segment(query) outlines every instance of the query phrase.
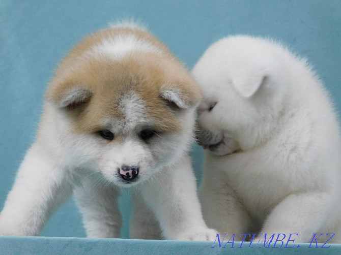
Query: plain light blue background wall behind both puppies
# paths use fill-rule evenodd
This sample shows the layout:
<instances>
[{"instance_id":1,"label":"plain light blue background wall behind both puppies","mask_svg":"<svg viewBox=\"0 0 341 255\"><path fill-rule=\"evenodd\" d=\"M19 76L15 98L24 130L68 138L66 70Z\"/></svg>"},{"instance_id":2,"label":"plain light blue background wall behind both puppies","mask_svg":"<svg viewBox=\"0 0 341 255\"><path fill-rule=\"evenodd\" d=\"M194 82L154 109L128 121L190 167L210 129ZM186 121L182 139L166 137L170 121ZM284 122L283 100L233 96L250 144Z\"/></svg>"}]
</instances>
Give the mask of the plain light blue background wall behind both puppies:
<instances>
[{"instance_id":1,"label":"plain light blue background wall behind both puppies","mask_svg":"<svg viewBox=\"0 0 341 255\"><path fill-rule=\"evenodd\" d=\"M109 21L135 18L188 68L223 36L272 37L306 56L341 112L341 1L7 1L0 2L0 208L34 141L43 94L56 64L83 36ZM200 177L202 150L193 164ZM247 187L246 187L247 188ZM120 201L129 212L128 192ZM125 213L122 237L128 237ZM72 200L43 236L84 237Z\"/></svg>"}]
</instances>

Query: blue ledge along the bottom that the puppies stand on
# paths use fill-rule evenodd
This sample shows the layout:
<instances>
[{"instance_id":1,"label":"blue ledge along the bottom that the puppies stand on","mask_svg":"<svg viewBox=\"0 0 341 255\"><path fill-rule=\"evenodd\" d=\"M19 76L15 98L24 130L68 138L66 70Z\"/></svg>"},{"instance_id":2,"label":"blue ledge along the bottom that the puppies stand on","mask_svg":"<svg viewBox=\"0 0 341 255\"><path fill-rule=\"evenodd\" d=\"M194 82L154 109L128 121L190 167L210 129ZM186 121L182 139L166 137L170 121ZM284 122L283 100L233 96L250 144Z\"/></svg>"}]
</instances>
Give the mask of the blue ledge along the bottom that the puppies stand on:
<instances>
[{"instance_id":1,"label":"blue ledge along the bottom that the puppies stand on","mask_svg":"<svg viewBox=\"0 0 341 255\"><path fill-rule=\"evenodd\" d=\"M249 243L235 242L233 245L215 245L198 241L160 241L133 239L92 239L92 238L56 238L56 237L0 237L0 254L340 254L341 244L331 244L328 248L316 248L314 245L298 244L294 248L266 247L250 248ZM232 247L233 246L233 247ZM252 247L255 245L251 245ZM297 244L296 244L297 246ZM326 245L328 246L328 245ZM289 245L288 245L289 247ZM2 253L2 251L7 251Z\"/></svg>"}]
</instances>

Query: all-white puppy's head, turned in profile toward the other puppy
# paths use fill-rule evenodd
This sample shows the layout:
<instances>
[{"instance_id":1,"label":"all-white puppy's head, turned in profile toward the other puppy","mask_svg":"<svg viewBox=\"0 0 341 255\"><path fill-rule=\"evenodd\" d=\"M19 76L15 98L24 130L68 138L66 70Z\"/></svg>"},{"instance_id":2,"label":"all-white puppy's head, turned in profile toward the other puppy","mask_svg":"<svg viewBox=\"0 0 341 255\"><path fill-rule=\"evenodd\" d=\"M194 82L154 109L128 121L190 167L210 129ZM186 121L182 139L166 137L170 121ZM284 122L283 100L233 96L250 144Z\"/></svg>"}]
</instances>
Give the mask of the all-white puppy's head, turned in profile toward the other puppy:
<instances>
[{"instance_id":1,"label":"all-white puppy's head, turned in profile toward the other puppy","mask_svg":"<svg viewBox=\"0 0 341 255\"><path fill-rule=\"evenodd\" d=\"M259 145L274 129L286 94L283 49L263 39L224 38L192 73L204 92L199 142L217 155Z\"/></svg>"}]
</instances>

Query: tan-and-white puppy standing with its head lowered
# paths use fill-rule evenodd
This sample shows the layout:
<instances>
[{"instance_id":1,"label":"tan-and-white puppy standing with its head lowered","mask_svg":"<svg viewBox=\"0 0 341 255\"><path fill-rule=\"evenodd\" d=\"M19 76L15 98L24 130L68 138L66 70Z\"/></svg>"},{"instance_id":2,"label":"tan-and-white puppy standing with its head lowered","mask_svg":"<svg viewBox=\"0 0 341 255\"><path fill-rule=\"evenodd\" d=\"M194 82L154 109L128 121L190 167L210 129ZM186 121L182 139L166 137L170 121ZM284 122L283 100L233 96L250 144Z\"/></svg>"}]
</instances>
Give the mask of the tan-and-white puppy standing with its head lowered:
<instances>
[{"instance_id":1,"label":"tan-and-white puppy standing with its head lowered","mask_svg":"<svg viewBox=\"0 0 341 255\"><path fill-rule=\"evenodd\" d=\"M132 187L131 237L214 240L187 155L201 97L144 28L120 24L84 39L49 85L0 234L38 235L74 190L87 235L117 238L119 187Z\"/></svg>"}]
</instances>

